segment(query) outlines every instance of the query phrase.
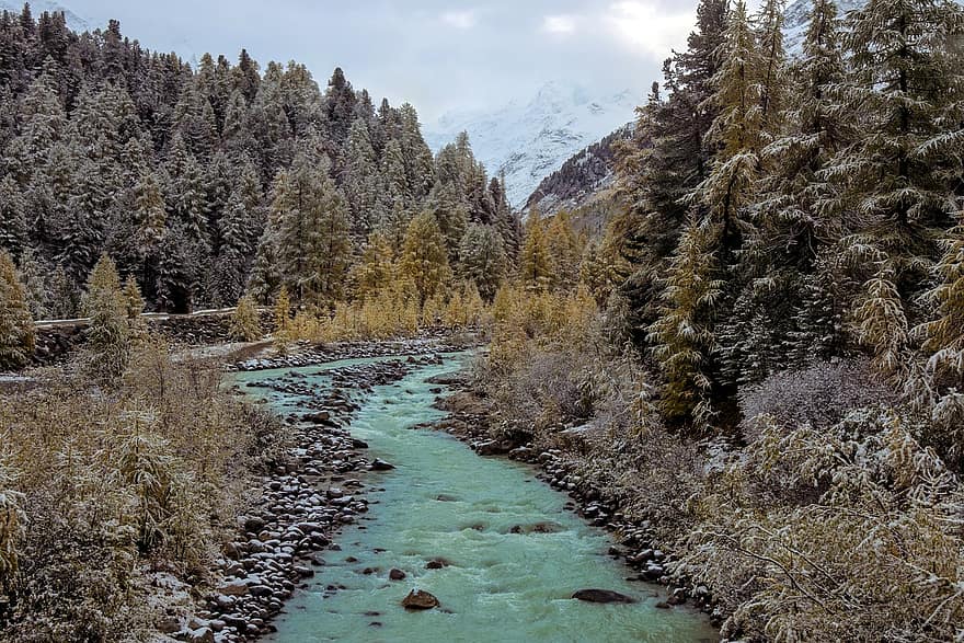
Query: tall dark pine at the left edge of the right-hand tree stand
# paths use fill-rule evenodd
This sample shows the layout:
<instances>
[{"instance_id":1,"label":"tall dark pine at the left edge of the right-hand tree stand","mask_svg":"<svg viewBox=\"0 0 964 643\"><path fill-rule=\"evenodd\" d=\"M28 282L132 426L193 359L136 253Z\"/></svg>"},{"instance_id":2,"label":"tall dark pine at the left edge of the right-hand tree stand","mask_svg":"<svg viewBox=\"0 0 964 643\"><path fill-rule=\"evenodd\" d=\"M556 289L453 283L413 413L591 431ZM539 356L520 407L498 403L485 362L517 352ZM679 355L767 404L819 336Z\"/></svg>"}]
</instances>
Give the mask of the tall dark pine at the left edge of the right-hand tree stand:
<instances>
[{"instance_id":1,"label":"tall dark pine at the left edge of the right-hand tree stand","mask_svg":"<svg viewBox=\"0 0 964 643\"><path fill-rule=\"evenodd\" d=\"M633 137L617 148L617 190L629 204L616 218L613 250L628 263L621 290L630 302L632 324L655 321L659 283L692 208L684 203L707 179L718 145L708 133L719 115L713 79L722 62L727 1L701 0L697 28L687 50L663 67L664 82L653 84L647 103L636 110ZM638 336L645 341L645 334Z\"/></svg>"}]
</instances>

